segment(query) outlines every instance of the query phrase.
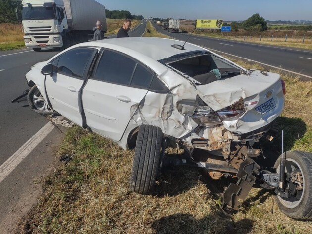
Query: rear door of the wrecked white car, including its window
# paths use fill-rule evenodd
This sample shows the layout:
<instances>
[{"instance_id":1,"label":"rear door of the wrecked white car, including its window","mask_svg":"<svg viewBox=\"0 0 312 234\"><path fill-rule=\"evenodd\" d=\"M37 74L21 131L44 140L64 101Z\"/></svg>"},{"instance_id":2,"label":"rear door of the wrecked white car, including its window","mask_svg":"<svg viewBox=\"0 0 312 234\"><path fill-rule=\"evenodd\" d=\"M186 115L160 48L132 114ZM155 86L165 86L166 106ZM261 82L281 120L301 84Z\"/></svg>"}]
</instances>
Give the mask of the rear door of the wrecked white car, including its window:
<instances>
[{"instance_id":1,"label":"rear door of the wrecked white car, including its window","mask_svg":"<svg viewBox=\"0 0 312 234\"><path fill-rule=\"evenodd\" d=\"M103 50L96 69L83 88L87 125L119 141L145 97L154 73L133 58Z\"/></svg>"}]
</instances>

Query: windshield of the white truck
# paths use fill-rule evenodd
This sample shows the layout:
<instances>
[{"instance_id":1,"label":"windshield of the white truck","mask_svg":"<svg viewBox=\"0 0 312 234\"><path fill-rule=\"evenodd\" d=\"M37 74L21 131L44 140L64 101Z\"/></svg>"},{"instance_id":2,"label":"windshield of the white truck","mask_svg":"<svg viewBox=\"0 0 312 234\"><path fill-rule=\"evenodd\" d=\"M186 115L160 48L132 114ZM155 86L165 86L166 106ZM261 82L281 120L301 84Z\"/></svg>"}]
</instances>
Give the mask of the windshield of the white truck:
<instances>
[{"instance_id":1,"label":"windshield of the white truck","mask_svg":"<svg viewBox=\"0 0 312 234\"><path fill-rule=\"evenodd\" d=\"M23 7L22 20L56 19L52 7Z\"/></svg>"}]
</instances>

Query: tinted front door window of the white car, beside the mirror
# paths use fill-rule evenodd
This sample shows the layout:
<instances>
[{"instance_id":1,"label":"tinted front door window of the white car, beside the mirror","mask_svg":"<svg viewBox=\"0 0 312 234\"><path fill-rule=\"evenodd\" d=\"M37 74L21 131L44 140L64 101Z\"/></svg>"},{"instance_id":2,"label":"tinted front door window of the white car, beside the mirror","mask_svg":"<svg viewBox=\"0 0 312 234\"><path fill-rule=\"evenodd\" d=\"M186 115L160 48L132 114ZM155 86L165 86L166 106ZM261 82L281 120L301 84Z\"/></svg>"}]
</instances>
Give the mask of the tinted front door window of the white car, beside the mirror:
<instances>
[{"instance_id":1,"label":"tinted front door window of the white car, beside the mirror","mask_svg":"<svg viewBox=\"0 0 312 234\"><path fill-rule=\"evenodd\" d=\"M93 51L89 48L76 48L65 52L59 57L56 72L82 78Z\"/></svg>"}]
</instances>

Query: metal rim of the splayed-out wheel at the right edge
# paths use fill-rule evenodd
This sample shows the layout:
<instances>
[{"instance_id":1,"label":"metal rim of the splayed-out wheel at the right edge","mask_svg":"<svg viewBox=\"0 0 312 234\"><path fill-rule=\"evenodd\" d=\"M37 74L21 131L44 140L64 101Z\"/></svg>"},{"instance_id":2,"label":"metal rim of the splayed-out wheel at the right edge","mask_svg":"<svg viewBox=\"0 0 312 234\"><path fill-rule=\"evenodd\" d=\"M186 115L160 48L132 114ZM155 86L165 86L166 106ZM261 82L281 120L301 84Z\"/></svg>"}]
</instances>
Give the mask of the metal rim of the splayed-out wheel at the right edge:
<instances>
[{"instance_id":1,"label":"metal rim of the splayed-out wheel at the right edge","mask_svg":"<svg viewBox=\"0 0 312 234\"><path fill-rule=\"evenodd\" d=\"M303 177L303 182L304 182L303 183L303 190L302 191L296 190L295 196L292 196L290 198L282 198L280 196L277 196L277 199L279 200L279 202L283 206L285 206L289 209L297 207L300 204L301 200L303 199L303 195L305 192L305 177L304 177L304 174L302 172L302 168L300 167L299 163L296 160L291 159L291 158L286 159L285 173L291 173L295 170L296 171L299 170L301 173L301 176ZM279 173L279 166L277 167L276 171Z\"/></svg>"}]
</instances>

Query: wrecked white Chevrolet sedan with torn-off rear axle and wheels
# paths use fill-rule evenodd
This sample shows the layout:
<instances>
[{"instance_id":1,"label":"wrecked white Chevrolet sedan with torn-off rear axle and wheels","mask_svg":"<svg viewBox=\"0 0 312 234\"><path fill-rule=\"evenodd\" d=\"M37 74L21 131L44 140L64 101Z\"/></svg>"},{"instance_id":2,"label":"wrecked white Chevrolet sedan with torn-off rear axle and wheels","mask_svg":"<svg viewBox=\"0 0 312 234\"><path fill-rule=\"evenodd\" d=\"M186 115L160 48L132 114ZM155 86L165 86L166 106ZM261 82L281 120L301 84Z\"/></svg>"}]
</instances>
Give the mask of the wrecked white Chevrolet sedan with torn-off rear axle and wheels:
<instances>
[{"instance_id":1,"label":"wrecked white Chevrolet sedan with torn-off rear axle and wheels","mask_svg":"<svg viewBox=\"0 0 312 234\"><path fill-rule=\"evenodd\" d=\"M117 38L74 45L26 79L32 109L135 148L131 191L152 193L164 165L190 165L238 179L224 191L224 207L239 209L259 182L285 214L312 219L311 155L288 151L271 170L254 160L284 108L279 74L178 40ZM184 153L168 156L167 147Z\"/></svg>"}]
</instances>

